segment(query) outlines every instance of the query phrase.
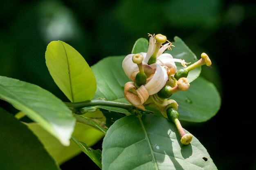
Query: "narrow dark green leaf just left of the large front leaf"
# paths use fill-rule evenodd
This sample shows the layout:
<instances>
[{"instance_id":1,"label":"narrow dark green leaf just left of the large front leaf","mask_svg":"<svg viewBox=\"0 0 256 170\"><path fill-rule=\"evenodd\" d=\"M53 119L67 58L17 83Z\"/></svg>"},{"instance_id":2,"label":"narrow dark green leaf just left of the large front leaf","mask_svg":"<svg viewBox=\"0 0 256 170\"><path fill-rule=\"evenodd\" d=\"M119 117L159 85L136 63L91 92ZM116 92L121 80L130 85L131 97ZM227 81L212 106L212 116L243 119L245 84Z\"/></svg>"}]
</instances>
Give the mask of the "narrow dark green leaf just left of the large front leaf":
<instances>
[{"instance_id":1,"label":"narrow dark green leaf just left of the large front leaf","mask_svg":"<svg viewBox=\"0 0 256 170\"><path fill-rule=\"evenodd\" d=\"M96 163L99 168L101 168L101 150L93 150L92 148L89 148L85 143L77 140L75 137L72 137L73 141L76 142L76 144L81 148L81 150Z\"/></svg>"}]
</instances>

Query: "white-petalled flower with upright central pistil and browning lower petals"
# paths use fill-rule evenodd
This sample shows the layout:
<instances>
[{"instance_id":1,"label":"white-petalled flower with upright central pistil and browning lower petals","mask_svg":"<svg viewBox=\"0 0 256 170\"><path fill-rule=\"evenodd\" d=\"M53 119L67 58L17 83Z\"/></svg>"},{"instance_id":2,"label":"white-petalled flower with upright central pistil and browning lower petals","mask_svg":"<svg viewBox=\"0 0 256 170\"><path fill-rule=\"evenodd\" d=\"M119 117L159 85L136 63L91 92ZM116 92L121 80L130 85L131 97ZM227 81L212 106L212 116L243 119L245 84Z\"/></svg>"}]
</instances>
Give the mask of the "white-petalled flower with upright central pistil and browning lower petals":
<instances>
[{"instance_id":1,"label":"white-petalled flower with upright central pistil and browning lower petals","mask_svg":"<svg viewBox=\"0 0 256 170\"><path fill-rule=\"evenodd\" d=\"M141 63L147 75L146 84L138 87L134 82L137 73L139 73L139 64L132 61L132 56L135 54L127 55L122 63L126 76L132 80L132 82L125 84L124 96L128 102L141 109L144 109L143 104L150 95L154 95L164 87L168 81L168 75L176 73L175 62L180 62L183 66L188 64L184 60L174 59L171 54L164 53L166 49L171 49L171 46L173 46L166 39L166 36L162 34L149 34L149 36L147 53L139 53L143 57ZM162 45L166 41L168 43Z\"/></svg>"}]
</instances>

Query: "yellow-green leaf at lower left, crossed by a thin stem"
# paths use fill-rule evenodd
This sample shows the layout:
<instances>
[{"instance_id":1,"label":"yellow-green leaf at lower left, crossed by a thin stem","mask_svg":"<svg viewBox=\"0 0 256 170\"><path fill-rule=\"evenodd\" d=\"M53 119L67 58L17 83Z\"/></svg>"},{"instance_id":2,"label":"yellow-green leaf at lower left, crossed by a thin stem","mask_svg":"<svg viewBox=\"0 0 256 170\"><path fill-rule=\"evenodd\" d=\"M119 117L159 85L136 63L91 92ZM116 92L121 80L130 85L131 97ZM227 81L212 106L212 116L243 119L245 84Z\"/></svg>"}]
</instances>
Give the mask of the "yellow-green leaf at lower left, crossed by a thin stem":
<instances>
[{"instance_id":1,"label":"yellow-green leaf at lower left, crossed by a thin stem","mask_svg":"<svg viewBox=\"0 0 256 170\"><path fill-rule=\"evenodd\" d=\"M63 146L39 124L29 123L26 125L32 132L34 132L48 153L59 165L81 152L81 149L72 140L70 141L70 146ZM76 123L72 136L79 139L79 141L83 141L85 144L87 144L87 146L90 147L96 144L97 141L99 141L104 135L101 131L93 128L92 126Z\"/></svg>"}]
</instances>

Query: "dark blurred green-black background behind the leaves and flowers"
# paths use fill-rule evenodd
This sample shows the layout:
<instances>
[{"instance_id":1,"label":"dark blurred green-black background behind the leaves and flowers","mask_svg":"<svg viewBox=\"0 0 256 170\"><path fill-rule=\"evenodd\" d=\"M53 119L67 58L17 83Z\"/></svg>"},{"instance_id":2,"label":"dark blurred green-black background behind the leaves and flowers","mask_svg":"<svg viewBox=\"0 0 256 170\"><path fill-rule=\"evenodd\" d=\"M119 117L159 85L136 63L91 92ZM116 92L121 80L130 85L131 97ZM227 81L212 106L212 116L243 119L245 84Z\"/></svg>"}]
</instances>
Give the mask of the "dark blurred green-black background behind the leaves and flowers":
<instances>
[{"instance_id":1,"label":"dark blurred green-black background behind the leaves and flowers","mask_svg":"<svg viewBox=\"0 0 256 170\"><path fill-rule=\"evenodd\" d=\"M213 60L202 76L222 96L215 117L185 128L207 148L219 170L256 170L255 1L8 0L1 2L0 23L0 75L37 84L63 101L45 65L52 40L67 42L91 66L103 57L129 54L135 40L147 33L162 33L170 41L179 36L198 57L205 52ZM5 102L0 107L12 111ZM76 170L97 169L83 153L61 168L74 165Z\"/></svg>"}]
</instances>

